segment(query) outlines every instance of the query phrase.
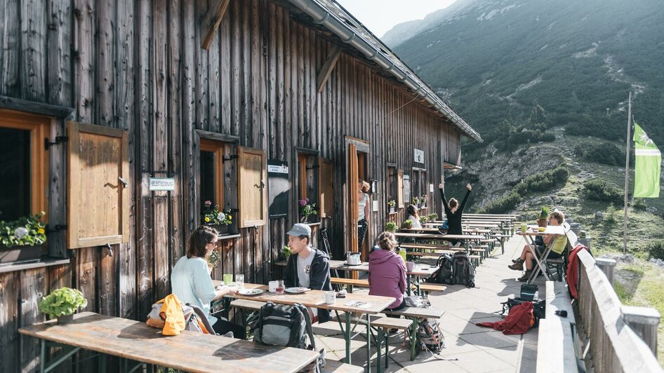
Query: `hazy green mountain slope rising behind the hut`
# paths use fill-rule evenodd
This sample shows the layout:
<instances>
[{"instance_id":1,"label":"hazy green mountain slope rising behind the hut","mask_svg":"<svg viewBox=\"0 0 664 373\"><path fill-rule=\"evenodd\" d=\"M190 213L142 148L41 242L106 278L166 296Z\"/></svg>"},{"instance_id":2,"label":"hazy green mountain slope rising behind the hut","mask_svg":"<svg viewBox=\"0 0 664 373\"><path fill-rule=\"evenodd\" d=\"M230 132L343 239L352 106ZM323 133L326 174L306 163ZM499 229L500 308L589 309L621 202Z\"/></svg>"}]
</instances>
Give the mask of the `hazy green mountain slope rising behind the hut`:
<instances>
[{"instance_id":1,"label":"hazy green mountain slope rising behind the hut","mask_svg":"<svg viewBox=\"0 0 664 373\"><path fill-rule=\"evenodd\" d=\"M463 147L460 175L482 184L478 204L565 160L580 175L617 165L608 147L624 164L630 90L635 121L664 148L661 0L459 0L383 41L484 138Z\"/></svg>"}]
</instances>

